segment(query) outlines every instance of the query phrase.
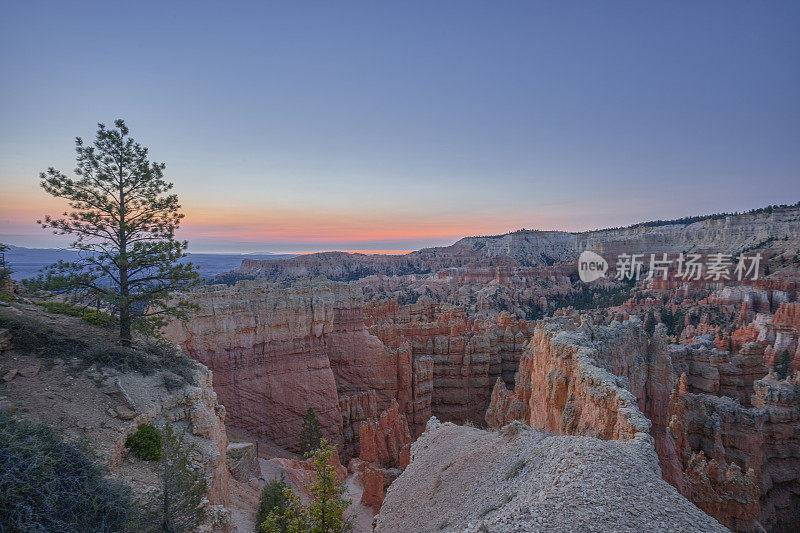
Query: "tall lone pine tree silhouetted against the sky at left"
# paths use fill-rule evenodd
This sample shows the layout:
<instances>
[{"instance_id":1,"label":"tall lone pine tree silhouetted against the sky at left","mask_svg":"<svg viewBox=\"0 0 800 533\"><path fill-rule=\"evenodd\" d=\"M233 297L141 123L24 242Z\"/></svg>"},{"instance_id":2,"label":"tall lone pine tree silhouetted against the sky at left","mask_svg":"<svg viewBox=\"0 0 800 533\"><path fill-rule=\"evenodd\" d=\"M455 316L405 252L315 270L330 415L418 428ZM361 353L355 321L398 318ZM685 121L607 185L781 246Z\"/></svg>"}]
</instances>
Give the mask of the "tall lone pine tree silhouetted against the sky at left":
<instances>
[{"instance_id":1,"label":"tall lone pine tree silhouetted against the sky at left","mask_svg":"<svg viewBox=\"0 0 800 533\"><path fill-rule=\"evenodd\" d=\"M124 121L112 129L98 126L92 146L75 141L77 178L53 167L40 174L42 188L66 199L71 211L38 223L74 235L71 248L83 252L76 261L51 265L49 279L59 281L59 292L115 313L120 343L129 345L134 320L155 330L165 316L183 316L192 307L168 302L172 291L191 287L198 275L190 263L178 262L187 242L175 240L183 214L164 180L166 166L148 160Z\"/></svg>"}]
</instances>

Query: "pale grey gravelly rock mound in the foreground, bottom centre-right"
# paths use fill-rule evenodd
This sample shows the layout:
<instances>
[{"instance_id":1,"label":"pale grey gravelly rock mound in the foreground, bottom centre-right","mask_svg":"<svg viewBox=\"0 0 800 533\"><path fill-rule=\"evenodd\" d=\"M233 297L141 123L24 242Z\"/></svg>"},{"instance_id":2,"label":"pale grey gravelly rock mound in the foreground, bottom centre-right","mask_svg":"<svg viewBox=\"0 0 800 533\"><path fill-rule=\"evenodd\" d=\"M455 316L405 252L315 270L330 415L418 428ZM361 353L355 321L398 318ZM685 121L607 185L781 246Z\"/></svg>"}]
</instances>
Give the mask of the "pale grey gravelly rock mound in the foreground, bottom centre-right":
<instances>
[{"instance_id":1,"label":"pale grey gravelly rock mound in the foreground, bottom centre-right","mask_svg":"<svg viewBox=\"0 0 800 533\"><path fill-rule=\"evenodd\" d=\"M635 439L500 431L432 418L377 531L727 531L661 479Z\"/></svg>"}]
</instances>

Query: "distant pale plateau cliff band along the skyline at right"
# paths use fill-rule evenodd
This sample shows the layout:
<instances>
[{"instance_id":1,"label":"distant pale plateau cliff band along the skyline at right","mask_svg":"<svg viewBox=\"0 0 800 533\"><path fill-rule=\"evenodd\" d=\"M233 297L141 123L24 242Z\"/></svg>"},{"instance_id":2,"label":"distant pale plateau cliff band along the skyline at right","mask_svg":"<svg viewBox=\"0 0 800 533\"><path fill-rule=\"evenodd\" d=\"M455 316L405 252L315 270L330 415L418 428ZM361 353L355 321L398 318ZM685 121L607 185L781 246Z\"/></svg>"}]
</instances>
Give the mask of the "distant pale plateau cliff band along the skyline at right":
<instances>
[{"instance_id":1,"label":"distant pale plateau cliff band along the skyline at right","mask_svg":"<svg viewBox=\"0 0 800 533\"><path fill-rule=\"evenodd\" d=\"M699 217L698 217L699 218ZM779 243L779 244L778 244ZM426 248L403 255L324 252L291 259L246 259L231 275L282 281L326 276L351 281L374 274L435 274L487 259L509 260L505 271L485 273L498 280L520 267L571 263L583 250L606 259L620 253L785 251L800 248L800 207L766 209L738 215L715 215L694 222L645 223L628 228L570 233L520 230L503 235L466 237L451 246Z\"/></svg>"}]
</instances>

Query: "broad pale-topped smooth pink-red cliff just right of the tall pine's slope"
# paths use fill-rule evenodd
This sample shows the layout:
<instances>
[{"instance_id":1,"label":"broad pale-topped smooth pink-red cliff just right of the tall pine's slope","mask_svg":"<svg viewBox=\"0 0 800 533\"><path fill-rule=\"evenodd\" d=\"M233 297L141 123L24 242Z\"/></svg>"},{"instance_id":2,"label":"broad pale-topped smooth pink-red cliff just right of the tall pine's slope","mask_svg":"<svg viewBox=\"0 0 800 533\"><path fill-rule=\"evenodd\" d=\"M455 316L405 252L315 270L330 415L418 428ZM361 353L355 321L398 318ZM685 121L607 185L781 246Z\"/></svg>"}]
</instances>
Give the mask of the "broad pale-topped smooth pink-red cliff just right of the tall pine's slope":
<instances>
[{"instance_id":1,"label":"broad pale-topped smooth pink-red cliff just right of the tall pine's slope","mask_svg":"<svg viewBox=\"0 0 800 533\"><path fill-rule=\"evenodd\" d=\"M164 335L214 372L230 425L287 449L299 449L311 407L325 436L354 453L361 422L389 407L408 374L366 330L357 287L239 282L192 301L199 310Z\"/></svg>"}]
</instances>

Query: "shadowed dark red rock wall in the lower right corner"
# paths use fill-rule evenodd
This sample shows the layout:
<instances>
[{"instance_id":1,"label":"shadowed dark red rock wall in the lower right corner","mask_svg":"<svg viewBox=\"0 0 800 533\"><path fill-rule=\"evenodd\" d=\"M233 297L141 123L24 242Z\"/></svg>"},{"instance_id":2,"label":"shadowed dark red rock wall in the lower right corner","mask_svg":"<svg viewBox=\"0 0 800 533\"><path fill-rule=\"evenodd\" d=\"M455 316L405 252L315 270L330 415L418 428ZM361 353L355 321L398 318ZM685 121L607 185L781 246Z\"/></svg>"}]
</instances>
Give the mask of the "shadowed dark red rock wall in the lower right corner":
<instances>
[{"instance_id":1,"label":"shadowed dark red rock wall in the lower right corner","mask_svg":"<svg viewBox=\"0 0 800 533\"><path fill-rule=\"evenodd\" d=\"M732 529L752 530L758 521L791 531L800 521L800 378L763 377L757 343L736 355L708 339L670 352L680 373L670 434L689 497Z\"/></svg>"}]
</instances>

